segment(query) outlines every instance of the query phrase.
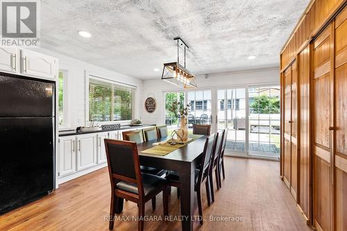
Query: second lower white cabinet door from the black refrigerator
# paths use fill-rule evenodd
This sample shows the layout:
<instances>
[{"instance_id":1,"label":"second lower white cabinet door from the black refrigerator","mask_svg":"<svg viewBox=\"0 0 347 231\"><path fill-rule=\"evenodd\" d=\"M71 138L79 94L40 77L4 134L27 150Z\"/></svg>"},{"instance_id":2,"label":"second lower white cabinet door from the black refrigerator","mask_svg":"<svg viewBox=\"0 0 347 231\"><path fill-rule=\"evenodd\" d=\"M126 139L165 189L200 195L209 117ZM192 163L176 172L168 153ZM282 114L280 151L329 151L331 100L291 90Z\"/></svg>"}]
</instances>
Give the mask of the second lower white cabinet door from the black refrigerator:
<instances>
[{"instance_id":1,"label":"second lower white cabinet door from the black refrigerator","mask_svg":"<svg viewBox=\"0 0 347 231\"><path fill-rule=\"evenodd\" d=\"M81 135L77 138L77 170L96 165L96 135Z\"/></svg>"}]
</instances>

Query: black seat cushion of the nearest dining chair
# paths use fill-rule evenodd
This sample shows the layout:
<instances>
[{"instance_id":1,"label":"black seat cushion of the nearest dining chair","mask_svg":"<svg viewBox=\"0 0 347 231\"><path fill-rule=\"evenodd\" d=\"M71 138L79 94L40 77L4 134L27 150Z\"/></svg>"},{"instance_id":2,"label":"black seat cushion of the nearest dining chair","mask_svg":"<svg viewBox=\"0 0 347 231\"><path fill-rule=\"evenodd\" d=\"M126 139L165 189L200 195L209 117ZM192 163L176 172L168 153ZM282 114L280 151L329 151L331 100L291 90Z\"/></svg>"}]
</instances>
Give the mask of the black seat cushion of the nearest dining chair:
<instances>
[{"instance_id":1,"label":"black seat cushion of the nearest dining chair","mask_svg":"<svg viewBox=\"0 0 347 231\"><path fill-rule=\"evenodd\" d=\"M159 176L142 173L142 182L144 184L144 196L147 196L153 193L153 191L157 190L158 187L163 187L166 180L165 178L161 178ZM139 194L139 192L137 191L137 185L130 182L125 182L121 180L117 183L116 188L128 191L132 194Z\"/></svg>"}]
</instances>

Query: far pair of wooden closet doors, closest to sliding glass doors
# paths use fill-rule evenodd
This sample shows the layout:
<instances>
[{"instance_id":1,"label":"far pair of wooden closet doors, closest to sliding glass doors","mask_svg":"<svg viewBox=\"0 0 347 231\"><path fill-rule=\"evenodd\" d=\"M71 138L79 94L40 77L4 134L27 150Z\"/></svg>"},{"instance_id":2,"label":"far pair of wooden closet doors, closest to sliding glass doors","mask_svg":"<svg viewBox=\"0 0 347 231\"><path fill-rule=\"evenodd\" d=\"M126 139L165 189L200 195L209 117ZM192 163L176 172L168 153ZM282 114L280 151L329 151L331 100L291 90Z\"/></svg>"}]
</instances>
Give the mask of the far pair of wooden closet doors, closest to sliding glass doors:
<instances>
[{"instance_id":1,"label":"far pair of wooden closet doors, closest to sliding glass doors","mask_svg":"<svg viewBox=\"0 0 347 231\"><path fill-rule=\"evenodd\" d=\"M297 126L298 126L298 99L297 99L297 65L292 63L284 74L285 121L284 121L284 181L296 198L298 189L298 151L297 151Z\"/></svg>"}]
</instances>

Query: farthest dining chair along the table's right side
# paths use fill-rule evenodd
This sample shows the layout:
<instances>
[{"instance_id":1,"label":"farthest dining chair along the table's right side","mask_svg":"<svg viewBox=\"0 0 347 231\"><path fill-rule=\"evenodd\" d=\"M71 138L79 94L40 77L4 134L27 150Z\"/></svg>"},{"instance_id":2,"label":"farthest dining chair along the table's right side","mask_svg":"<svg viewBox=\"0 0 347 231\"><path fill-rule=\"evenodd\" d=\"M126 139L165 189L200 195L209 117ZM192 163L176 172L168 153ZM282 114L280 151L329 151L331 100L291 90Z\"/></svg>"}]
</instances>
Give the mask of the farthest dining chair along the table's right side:
<instances>
[{"instance_id":1,"label":"farthest dining chair along the table's right side","mask_svg":"<svg viewBox=\"0 0 347 231\"><path fill-rule=\"evenodd\" d=\"M224 132L225 130L222 130L221 132L218 132L216 135L216 145L214 146L214 151L212 153L211 157L211 164L209 169L209 176L210 176L210 186L211 186L211 198L212 202L214 202L214 188L213 188L213 171L214 176L216 178L216 185L217 189L219 189L219 155L221 153L222 144L223 144L223 138L224 138Z\"/></svg>"}]
</instances>

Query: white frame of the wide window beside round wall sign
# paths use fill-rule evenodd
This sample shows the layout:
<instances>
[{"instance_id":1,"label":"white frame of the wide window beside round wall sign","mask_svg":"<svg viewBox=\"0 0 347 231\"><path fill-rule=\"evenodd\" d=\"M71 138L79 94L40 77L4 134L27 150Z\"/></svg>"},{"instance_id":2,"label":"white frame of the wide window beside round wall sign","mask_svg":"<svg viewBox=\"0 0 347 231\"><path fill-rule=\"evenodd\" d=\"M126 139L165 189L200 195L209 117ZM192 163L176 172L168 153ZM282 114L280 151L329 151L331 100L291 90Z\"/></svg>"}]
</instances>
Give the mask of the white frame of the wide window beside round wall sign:
<instances>
[{"instance_id":1,"label":"white frame of the wide window beside round wall sign","mask_svg":"<svg viewBox=\"0 0 347 231\"><path fill-rule=\"evenodd\" d=\"M90 74L88 71L85 71L85 126L90 124L90 108L89 108L89 84L90 79L110 83L114 85L119 85L120 87L128 87L131 89L132 97L131 97L131 119L128 120L118 120L118 121L95 121L98 125L103 124L112 124L112 123L121 123L121 125L128 125L130 121L134 119L135 116L135 97L136 97L136 89L135 85L130 85L126 83L120 83L117 80L110 80L109 78L99 77L99 75Z\"/></svg>"}]
</instances>

